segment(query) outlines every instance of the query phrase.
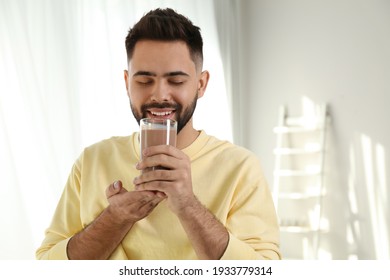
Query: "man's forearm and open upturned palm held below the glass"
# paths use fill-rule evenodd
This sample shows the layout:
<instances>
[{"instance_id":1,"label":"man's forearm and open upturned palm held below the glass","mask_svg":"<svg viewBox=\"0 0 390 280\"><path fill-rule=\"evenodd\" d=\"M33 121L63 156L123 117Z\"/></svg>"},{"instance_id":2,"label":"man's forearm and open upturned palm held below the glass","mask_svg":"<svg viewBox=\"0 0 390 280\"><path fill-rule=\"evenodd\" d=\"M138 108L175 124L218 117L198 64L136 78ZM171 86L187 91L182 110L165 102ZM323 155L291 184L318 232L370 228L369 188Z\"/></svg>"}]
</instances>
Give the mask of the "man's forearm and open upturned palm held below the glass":
<instances>
[{"instance_id":1,"label":"man's forearm and open upturned palm held below the glass","mask_svg":"<svg viewBox=\"0 0 390 280\"><path fill-rule=\"evenodd\" d=\"M116 181L106 189L109 206L68 243L69 259L108 259L133 225L165 197L151 191L127 191Z\"/></svg>"}]
</instances>

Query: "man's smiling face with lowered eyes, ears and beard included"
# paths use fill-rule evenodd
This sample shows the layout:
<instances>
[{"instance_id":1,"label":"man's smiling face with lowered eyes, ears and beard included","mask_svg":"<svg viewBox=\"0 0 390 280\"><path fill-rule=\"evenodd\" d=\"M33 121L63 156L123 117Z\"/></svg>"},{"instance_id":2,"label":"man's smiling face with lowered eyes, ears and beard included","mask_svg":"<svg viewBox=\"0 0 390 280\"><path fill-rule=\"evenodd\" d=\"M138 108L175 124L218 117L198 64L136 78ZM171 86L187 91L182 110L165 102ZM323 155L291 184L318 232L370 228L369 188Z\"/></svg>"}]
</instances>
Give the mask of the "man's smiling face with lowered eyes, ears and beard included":
<instances>
[{"instance_id":1,"label":"man's smiling face with lowered eyes, ears and beard included","mask_svg":"<svg viewBox=\"0 0 390 280\"><path fill-rule=\"evenodd\" d=\"M137 42L129 70L125 71L127 94L137 122L142 118L169 118L178 122L178 132L189 121L192 125L197 99L205 89L203 75L184 42Z\"/></svg>"}]
</instances>

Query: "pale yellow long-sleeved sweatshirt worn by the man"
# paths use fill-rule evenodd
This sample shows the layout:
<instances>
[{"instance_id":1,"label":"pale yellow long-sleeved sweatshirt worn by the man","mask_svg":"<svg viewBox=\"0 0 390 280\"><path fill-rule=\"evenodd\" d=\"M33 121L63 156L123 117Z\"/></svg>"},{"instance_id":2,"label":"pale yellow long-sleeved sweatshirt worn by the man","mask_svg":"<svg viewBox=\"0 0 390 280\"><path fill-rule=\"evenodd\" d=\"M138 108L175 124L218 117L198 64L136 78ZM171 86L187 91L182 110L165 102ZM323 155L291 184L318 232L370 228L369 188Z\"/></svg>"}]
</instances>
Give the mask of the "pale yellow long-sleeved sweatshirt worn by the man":
<instances>
[{"instance_id":1,"label":"pale yellow long-sleeved sweatshirt worn by the man","mask_svg":"<svg viewBox=\"0 0 390 280\"><path fill-rule=\"evenodd\" d=\"M86 148L75 162L38 259L67 259L69 239L108 206L106 188L121 180L133 190L140 159L138 133ZM191 159L193 191L229 231L222 259L280 259L272 197L257 158L248 150L201 131L183 150ZM111 259L196 259L178 218L165 201L138 221Z\"/></svg>"}]
</instances>

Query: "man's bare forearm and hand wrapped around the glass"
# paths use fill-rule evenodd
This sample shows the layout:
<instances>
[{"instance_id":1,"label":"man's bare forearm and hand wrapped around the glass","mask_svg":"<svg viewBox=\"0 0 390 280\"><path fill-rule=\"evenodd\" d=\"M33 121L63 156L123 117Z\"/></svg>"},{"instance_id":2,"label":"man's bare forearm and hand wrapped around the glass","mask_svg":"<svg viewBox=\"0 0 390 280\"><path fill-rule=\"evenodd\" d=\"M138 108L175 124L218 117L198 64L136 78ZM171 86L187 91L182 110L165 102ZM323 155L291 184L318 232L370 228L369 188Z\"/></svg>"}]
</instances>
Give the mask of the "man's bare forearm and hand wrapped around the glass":
<instances>
[{"instance_id":1,"label":"man's bare forearm and hand wrapped around the glass","mask_svg":"<svg viewBox=\"0 0 390 280\"><path fill-rule=\"evenodd\" d=\"M229 242L226 228L195 197L192 190L191 162L172 146L153 146L144 150L137 168L163 167L143 172L134 179L138 191L162 192L177 215L200 259L219 259Z\"/></svg>"}]
</instances>

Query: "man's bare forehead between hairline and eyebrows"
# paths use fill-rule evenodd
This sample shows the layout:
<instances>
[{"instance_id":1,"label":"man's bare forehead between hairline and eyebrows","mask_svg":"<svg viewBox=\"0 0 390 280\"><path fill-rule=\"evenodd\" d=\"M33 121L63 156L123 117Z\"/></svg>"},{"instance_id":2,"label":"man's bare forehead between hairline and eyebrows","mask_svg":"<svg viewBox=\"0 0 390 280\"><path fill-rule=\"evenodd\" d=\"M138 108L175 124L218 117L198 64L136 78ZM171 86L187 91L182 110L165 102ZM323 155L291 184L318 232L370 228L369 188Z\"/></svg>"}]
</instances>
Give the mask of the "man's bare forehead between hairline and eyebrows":
<instances>
[{"instance_id":1,"label":"man's bare forehead between hairline and eyebrows","mask_svg":"<svg viewBox=\"0 0 390 280\"><path fill-rule=\"evenodd\" d=\"M182 41L141 40L136 43L129 70L170 72L195 71L186 43Z\"/></svg>"}]
</instances>

